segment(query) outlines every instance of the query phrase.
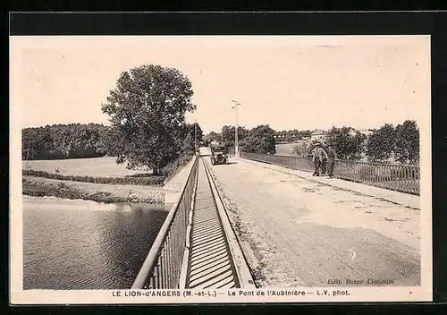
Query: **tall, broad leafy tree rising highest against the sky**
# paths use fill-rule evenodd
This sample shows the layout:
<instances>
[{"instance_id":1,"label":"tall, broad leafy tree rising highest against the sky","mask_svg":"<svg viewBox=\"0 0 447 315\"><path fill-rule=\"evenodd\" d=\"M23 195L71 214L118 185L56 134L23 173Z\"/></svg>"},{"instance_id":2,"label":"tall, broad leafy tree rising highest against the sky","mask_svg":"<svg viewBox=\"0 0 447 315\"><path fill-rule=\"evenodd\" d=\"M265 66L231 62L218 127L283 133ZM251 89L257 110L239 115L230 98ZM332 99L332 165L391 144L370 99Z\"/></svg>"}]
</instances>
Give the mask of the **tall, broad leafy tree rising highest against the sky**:
<instances>
[{"instance_id":1,"label":"tall, broad leafy tree rising highest against the sky","mask_svg":"<svg viewBox=\"0 0 447 315\"><path fill-rule=\"evenodd\" d=\"M180 154L185 114L195 110L190 80L179 70L141 65L122 72L103 112L110 116L116 162L158 175Z\"/></svg>"}]
</instances>

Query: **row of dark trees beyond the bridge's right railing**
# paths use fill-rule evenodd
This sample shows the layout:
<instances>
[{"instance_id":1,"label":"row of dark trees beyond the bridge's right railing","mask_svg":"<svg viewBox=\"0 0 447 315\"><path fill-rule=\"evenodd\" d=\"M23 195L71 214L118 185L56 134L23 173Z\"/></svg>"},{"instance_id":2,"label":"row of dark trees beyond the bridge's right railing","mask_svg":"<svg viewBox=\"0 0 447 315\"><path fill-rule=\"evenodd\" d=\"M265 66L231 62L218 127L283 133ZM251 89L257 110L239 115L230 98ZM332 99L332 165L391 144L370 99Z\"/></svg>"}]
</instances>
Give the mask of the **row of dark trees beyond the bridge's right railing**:
<instances>
[{"instance_id":1,"label":"row of dark trees beyond the bridge's right railing","mask_svg":"<svg viewBox=\"0 0 447 315\"><path fill-rule=\"evenodd\" d=\"M223 126L221 132L209 132L205 136L205 144L215 140L223 143L229 151L234 148L234 126ZM293 130L276 132L268 125L259 125L253 129L239 127L238 138L240 151L275 154L277 136L283 135L285 142L308 139L312 132ZM295 137L292 137L295 135ZM407 120L393 126L385 123L379 129L364 134L351 127L333 127L326 132L322 140L300 141L294 147L294 152L302 158L309 158L316 142L324 147L332 145L337 157L341 159L367 159L371 162L399 162L402 164L417 164L419 161L419 129L415 121Z\"/></svg>"}]
</instances>

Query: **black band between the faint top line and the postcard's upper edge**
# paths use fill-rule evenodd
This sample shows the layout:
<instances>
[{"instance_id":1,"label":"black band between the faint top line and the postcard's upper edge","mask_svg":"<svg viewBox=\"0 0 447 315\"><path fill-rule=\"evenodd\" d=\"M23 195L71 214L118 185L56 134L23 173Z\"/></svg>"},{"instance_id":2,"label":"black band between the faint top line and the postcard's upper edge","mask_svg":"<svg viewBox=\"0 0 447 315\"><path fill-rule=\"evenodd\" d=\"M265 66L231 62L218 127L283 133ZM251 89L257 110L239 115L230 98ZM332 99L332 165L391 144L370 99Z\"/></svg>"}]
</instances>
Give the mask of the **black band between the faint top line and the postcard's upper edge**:
<instances>
[{"instance_id":1,"label":"black band between the faint top line and the postcard's upper edge","mask_svg":"<svg viewBox=\"0 0 447 315\"><path fill-rule=\"evenodd\" d=\"M447 13L11 13L20 35L432 34ZM439 38L438 38L439 36Z\"/></svg>"}]
</instances>

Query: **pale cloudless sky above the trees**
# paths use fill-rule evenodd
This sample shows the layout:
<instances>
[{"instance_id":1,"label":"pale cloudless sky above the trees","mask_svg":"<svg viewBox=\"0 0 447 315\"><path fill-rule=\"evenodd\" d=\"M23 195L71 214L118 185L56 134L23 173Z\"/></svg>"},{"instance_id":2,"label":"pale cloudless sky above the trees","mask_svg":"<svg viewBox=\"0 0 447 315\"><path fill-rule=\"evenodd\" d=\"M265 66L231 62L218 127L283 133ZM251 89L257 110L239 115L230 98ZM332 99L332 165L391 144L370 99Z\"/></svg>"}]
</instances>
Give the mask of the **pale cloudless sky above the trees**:
<instances>
[{"instance_id":1,"label":"pale cloudless sky above the trees","mask_svg":"<svg viewBox=\"0 0 447 315\"><path fill-rule=\"evenodd\" d=\"M13 37L10 106L21 126L104 123L120 73L174 67L191 81L204 132L357 129L418 122L430 108L428 36Z\"/></svg>"}]
</instances>

